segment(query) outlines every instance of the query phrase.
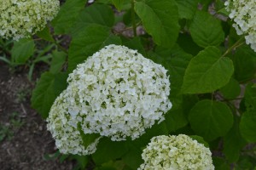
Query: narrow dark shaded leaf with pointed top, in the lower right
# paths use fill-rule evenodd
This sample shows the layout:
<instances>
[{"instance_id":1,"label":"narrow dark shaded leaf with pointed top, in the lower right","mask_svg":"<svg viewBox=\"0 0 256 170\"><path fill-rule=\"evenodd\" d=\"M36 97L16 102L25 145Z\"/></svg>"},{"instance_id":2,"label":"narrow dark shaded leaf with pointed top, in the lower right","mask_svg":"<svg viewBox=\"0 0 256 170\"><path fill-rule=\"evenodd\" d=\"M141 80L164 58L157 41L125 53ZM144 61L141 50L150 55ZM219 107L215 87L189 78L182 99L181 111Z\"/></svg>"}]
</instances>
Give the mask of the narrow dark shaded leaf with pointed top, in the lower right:
<instances>
[{"instance_id":1,"label":"narrow dark shaded leaf with pointed top, in the lower right","mask_svg":"<svg viewBox=\"0 0 256 170\"><path fill-rule=\"evenodd\" d=\"M230 132L224 136L224 155L230 162L236 162L239 159L242 147L247 144L241 137L239 131L239 119L235 116L235 122Z\"/></svg>"}]
</instances>

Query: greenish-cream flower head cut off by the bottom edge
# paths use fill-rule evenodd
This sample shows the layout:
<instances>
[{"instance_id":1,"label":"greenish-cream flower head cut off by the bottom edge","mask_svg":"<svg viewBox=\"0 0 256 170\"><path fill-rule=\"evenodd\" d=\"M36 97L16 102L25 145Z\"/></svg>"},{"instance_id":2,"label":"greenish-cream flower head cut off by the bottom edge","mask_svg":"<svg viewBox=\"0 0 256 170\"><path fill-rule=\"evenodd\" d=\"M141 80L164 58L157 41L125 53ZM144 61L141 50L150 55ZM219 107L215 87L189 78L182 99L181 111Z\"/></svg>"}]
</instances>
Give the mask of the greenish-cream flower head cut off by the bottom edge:
<instances>
[{"instance_id":1,"label":"greenish-cream flower head cut off by the bottom edge","mask_svg":"<svg viewBox=\"0 0 256 170\"><path fill-rule=\"evenodd\" d=\"M212 170L212 153L184 134L157 136L143 150L144 163L138 170Z\"/></svg>"}]
</instances>

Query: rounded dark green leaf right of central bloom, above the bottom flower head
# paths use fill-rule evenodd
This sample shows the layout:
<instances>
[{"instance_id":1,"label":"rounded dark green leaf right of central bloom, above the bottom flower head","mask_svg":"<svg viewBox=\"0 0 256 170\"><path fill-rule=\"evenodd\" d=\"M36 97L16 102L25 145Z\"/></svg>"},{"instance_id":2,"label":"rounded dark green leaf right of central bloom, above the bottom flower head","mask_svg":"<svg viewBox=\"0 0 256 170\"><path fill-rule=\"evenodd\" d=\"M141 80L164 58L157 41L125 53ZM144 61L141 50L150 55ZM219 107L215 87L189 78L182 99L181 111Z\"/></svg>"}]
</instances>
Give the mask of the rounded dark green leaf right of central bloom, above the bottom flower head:
<instances>
[{"instance_id":1,"label":"rounded dark green leaf right of central bloom, above the bottom flower head","mask_svg":"<svg viewBox=\"0 0 256 170\"><path fill-rule=\"evenodd\" d=\"M189 122L196 134L207 141L212 141L229 132L233 124L233 115L224 103L206 99L191 109Z\"/></svg>"}]
</instances>

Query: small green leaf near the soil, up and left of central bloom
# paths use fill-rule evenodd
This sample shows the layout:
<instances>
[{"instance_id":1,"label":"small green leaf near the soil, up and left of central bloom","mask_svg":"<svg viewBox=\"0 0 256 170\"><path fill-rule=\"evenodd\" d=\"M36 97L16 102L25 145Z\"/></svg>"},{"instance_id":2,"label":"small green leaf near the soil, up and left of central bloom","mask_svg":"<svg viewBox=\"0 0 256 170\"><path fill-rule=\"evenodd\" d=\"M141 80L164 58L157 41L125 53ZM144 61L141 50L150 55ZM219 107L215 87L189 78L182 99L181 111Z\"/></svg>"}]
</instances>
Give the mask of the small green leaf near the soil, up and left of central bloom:
<instances>
[{"instance_id":1,"label":"small green leaf near the soil, up and left of central bloom","mask_svg":"<svg viewBox=\"0 0 256 170\"><path fill-rule=\"evenodd\" d=\"M53 51L49 71L53 74L60 72L62 69L62 65L66 61L66 57L67 54L65 54L64 52Z\"/></svg>"}]
</instances>

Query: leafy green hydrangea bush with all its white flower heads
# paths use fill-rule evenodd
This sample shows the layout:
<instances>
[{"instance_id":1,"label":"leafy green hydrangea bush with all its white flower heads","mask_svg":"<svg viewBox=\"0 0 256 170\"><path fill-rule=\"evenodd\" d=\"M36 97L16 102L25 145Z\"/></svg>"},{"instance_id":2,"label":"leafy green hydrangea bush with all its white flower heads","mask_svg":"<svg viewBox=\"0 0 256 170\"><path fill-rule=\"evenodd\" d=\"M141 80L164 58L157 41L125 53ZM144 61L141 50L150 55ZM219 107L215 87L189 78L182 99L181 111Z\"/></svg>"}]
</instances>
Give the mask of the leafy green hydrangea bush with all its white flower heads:
<instances>
[{"instance_id":1,"label":"leafy green hydrangea bush with all its white flower heads","mask_svg":"<svg viewBox=\"0 0 256 170\"><path fill-rule=\"evenodd\" d=\"M0 0L0 36L20 39L2 41L10 51L0 42L0 59L49 64L32 107L61 160L81 169L256 167L255 1L61 2L58 12L57 0Z\"/></svg>"}]
</instances>

